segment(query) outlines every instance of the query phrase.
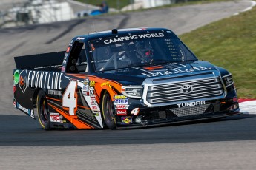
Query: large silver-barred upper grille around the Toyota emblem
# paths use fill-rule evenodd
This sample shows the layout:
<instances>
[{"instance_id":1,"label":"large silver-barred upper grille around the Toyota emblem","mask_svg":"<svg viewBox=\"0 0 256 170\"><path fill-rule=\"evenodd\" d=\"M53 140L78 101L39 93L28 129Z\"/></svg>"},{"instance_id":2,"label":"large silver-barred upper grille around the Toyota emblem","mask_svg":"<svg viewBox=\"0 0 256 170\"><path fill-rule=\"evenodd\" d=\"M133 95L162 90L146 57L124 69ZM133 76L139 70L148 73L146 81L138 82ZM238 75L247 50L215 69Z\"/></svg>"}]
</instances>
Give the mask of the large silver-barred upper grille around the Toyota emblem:
<instances>
[{"instance_id":1,"label":"large silver-barred upper grille around the Toyota emblem","mask_svg":"<svg viewBox=\"0 0 256 170\"><path fill-rule=\"evenodd\" d=\"M184 92L183 86L191 86L191 92ZM192 79L167 84L148 86L147 101L151 104L178 103L207 98L221 98L224 94L219 78Z\"/></svg>"}]
</instances>

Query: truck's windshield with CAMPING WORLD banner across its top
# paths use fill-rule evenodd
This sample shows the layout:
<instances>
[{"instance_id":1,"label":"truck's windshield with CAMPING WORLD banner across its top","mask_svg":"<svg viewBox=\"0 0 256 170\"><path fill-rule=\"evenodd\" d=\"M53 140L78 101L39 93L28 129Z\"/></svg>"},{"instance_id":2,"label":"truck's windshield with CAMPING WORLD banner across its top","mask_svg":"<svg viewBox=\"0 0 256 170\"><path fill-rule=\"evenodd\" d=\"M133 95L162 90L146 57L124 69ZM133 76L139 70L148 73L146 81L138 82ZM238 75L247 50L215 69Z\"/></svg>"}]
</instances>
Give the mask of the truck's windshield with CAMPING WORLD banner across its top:
<instances>
[{"instance_id":1,"label":"truck's windshield with CAMPING WORLD banner across its top","mask_svg":"<svg viewBox=\"0 0 256 170\"><path fill-rule=\"evenodd\" d=\"M197 60L171 31L113 35L89 45L96 72Z\"/></svg>"}]
</instances>

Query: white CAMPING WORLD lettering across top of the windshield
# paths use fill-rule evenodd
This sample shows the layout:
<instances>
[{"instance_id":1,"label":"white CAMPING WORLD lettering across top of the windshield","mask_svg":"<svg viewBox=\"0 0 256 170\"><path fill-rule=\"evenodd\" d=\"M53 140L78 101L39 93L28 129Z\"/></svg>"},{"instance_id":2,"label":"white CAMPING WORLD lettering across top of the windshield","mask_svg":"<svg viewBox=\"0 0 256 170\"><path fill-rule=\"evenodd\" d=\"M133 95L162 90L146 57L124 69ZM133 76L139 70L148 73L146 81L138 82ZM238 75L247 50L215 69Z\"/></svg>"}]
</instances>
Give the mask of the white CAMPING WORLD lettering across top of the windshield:
<instances>
[{"instance_id":1,"label":"white CAMPING WORLD lettering across top of the windshield","mask_svg":"<svg viewBox=\"0 0 256 170\"><path fill-rule=\"evenodd\" d=\"M118 38L111 38L111 39L106 39L104 41L105 44L111 44L111 43L116 43L116 42L122 42L122 41L129 41L129 40L134 40L134 39L142 39L142 38L160 38L164 37L165 35L163 33L148 33L148 34L140 34L140 35L130 35L130 36L123 36L123 37L118 37Z\"/></svg>"}]
</instances>

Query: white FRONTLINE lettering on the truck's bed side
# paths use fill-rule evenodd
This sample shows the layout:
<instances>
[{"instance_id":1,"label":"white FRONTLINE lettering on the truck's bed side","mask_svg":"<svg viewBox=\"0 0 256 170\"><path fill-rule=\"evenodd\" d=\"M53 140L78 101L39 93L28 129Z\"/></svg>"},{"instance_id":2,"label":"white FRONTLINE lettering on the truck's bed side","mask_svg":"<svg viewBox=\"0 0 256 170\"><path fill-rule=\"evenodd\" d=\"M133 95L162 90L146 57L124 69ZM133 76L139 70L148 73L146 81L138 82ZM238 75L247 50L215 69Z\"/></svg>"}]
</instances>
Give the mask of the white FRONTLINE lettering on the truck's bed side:
<instances>
[{"instance_id":1,"label":"white FRONTLINE lettering on the truck's bed side","mask_svg":"<svg viewBox=\"0 0 256 170\"><path fill-rule=\"evenodd\" d=\"M29 71L27 86L61 90L62 75L62 72Z\"/></svg>"}]
</instances>

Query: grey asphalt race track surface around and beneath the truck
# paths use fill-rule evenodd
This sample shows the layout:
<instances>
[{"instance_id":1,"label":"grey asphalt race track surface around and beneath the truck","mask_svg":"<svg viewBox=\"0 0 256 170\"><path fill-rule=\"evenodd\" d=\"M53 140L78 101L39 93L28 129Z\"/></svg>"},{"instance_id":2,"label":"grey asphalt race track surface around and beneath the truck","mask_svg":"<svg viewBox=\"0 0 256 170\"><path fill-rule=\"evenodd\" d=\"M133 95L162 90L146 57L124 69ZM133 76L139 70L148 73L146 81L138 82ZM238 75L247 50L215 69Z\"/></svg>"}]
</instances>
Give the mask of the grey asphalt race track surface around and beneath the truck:
<instances>
[{"instance_id":1,"label":"grey asphalt race track surface around and beneath the truck","mask_svg":"<svg viewBox=\"0 0 256 170\"><path fill-rule=\"evenodd\" d=\"M114 27L186 33L249 6L233 1L0 30L0 169L256 169L255 115L147 129L46 132L12 104L14 56L65 50L74 35Z\"/></svg>"}]
</instances>

